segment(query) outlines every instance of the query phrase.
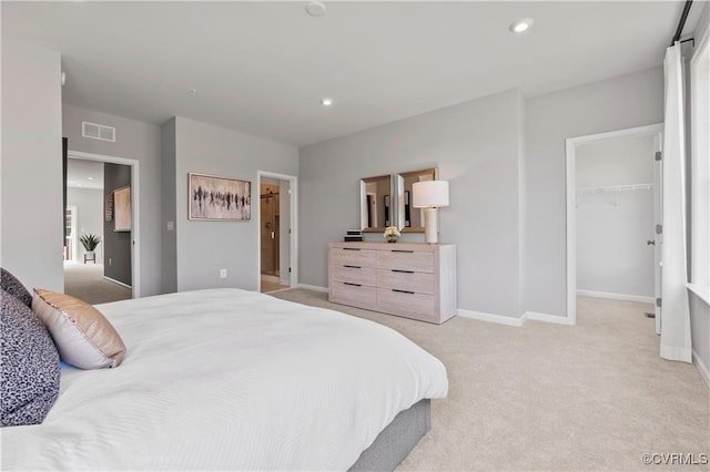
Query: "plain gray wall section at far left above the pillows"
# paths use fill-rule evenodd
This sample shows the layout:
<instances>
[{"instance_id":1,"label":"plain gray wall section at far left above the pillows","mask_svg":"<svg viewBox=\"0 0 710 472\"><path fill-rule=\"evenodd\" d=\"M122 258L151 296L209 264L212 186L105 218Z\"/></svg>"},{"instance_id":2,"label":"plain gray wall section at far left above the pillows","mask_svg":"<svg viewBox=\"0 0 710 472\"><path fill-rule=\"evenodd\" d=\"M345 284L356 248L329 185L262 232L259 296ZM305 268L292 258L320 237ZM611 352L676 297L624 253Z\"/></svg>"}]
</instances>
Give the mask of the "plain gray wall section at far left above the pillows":
<instances>
[{"instance_id":1,"label":"plain gray wall section at far left above the pillows","mask_svg":"<svg viewBox=\"0 0 710 472\"><path fill-rule=\"evenodd\" d=\"M29 289L64 290L61 57L2 39L0 264Z\"/></svg>"}]
</instances>

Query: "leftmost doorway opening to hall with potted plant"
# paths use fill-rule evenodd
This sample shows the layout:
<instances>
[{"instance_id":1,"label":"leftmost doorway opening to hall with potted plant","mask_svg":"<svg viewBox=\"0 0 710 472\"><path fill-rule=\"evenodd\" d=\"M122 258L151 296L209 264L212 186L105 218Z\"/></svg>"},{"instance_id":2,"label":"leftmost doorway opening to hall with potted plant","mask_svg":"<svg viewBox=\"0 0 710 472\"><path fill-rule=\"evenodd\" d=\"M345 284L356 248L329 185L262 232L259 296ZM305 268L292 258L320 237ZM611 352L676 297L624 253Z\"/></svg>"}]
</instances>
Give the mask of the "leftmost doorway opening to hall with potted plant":
<instances>
[{"instance_id":1,"label":"leftmost doorway opening to hall with potted plant","mask_svg":"<svg viewBox=\"0 0 710 472\"><path fill-rule=\"evenodd\" d=\"M135 160L68 152L68 205L75 205L79 216L75 237L95 236L100 243L94 250L78 245L75 263L64 266L67 294L92 305L140 297L139 183Z\"/></svg>"}]
</instances>

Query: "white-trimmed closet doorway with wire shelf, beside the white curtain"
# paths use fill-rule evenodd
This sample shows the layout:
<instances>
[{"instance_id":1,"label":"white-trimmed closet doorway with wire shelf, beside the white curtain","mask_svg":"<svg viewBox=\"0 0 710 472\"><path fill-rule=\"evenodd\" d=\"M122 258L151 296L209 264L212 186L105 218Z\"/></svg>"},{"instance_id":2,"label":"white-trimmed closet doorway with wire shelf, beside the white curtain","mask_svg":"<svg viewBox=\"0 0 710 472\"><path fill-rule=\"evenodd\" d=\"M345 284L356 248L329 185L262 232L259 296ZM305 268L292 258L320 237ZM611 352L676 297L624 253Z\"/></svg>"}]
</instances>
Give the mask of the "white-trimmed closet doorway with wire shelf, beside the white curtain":
<instances>
[{"instance_id":1,"label":"white-trimmed closet doorway with wire shelf, beside the white curtain","mask_svg":"<svg viewBox=\"0 0 710 472\"><path fill-rule=\"evenodd\" d=\"M659 330L661 133L658 124L567 140L569 324L586 296L643 302Z\"/></svg>"}]
</instances>

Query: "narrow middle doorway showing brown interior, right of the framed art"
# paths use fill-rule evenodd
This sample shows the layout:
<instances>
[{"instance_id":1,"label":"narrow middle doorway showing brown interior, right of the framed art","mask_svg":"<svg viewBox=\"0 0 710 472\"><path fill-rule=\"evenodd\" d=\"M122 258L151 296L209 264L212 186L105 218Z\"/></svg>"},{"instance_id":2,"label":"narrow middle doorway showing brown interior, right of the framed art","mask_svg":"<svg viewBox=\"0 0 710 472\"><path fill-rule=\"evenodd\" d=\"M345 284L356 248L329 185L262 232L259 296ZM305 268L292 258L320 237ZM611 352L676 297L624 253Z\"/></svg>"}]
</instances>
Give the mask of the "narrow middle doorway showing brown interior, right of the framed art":
<instances>
[{"instance_id":1,"label":"narrow middle doorway showing brown interior, right of the framed art","mask_svg":"<svg viewBox=\"0 0 710 472\"><path fill-rule=\"evenodd\" d=\"M262 293L285 290L296 285L296 191L295 176L260 171L258 287Z\"/></svg>"}]
</instances>

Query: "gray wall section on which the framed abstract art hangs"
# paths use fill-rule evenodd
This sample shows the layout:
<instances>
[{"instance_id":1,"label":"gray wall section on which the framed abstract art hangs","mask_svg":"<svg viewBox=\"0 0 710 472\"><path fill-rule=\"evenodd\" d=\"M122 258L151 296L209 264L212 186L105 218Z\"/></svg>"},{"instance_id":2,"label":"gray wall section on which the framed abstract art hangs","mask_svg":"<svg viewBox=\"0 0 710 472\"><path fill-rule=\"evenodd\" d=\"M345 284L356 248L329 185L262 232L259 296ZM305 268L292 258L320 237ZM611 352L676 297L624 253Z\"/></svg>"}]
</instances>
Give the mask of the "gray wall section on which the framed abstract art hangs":
<instances>
[{"instance_id":1,"label":"gray wall section on which the framed abstract art hangs","mask_svg":"<svg viewBox=\"0 0 710 472\"><path fill-rule=\"evenodd\" d=\"M175 119L175 201L178 289L239 287L258 289L256 172L298 175L298 150L178 116ZM252 182L252 219L187 220L187 174ZM162 223L163 225L165 222ZM227 278L220 278L227 269Z\"/></svg>"}]
</instances>

